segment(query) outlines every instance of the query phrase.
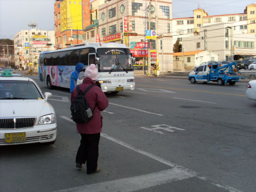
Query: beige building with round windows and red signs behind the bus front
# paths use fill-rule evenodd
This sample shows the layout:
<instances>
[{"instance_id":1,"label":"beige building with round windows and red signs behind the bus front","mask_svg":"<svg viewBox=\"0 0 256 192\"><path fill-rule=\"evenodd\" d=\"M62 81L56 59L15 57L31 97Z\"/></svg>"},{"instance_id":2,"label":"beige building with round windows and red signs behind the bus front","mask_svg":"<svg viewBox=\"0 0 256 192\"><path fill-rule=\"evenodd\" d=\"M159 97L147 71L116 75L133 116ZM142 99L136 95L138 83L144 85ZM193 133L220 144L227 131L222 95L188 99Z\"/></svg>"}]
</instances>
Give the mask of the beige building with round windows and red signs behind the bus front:
<instances>
[{"instance_id":1,"label":"beige building with round windows and red signs behind the bus front","mask_svg":"<svg viewBox=\"0 0 256 192\"><path fill-rule=\"evenodd\" d=\"M161 71L172 71L172 1L151 1L151 6L149 4L150 1L112 0L99 5L100 42L128 45L136 57L135 66L140 69L147 63L150 46L151 64L159 61ZM146 34L146 30L153 34ZM148 41L156 37L157 40Z\"/></svg>"}]
</instances>

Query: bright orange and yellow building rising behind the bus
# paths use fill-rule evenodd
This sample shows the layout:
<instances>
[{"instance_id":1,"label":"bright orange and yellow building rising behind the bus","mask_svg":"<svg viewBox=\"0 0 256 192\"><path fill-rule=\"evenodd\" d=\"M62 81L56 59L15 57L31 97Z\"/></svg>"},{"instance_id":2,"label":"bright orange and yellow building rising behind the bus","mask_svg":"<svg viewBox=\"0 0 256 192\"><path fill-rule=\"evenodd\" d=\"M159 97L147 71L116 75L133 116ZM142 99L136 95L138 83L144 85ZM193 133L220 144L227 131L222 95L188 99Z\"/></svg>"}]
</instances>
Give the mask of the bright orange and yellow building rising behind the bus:
<instances>
[{"instance_id":1,"label":"bright orange and yellow building rising behind the bus","mask_svg":"<svg viewBox=\"0 0 256 192\"><path fill-rule=\"evenodd\" d=\"M56 49L84 42L84 28L90 24L90 0L56 1L54 3Z\"/></svg>"}]
</instances>

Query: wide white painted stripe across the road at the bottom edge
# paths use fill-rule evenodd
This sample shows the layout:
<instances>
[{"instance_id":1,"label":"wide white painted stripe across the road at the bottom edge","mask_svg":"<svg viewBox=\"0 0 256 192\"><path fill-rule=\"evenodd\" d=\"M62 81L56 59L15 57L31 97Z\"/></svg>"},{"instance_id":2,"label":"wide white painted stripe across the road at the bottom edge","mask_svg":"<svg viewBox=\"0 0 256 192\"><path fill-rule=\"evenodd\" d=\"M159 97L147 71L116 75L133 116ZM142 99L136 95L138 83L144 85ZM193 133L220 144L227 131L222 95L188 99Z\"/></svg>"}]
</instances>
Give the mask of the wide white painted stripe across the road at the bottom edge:
<instances>
[{"instance_id":1,"label":"wide white painted stripe across the road at the bottom edge","mask_svg":"<svg viewBox=\"0 0 256 192\"><path fill-rule=\"evenodd\" d=\"M130 192L145 189L153 186L162 185L171 181L183 180L193 177L185 171L169 169L130 178L117 179L59 190L58 192Z\"/></svg>"}]
</instances>

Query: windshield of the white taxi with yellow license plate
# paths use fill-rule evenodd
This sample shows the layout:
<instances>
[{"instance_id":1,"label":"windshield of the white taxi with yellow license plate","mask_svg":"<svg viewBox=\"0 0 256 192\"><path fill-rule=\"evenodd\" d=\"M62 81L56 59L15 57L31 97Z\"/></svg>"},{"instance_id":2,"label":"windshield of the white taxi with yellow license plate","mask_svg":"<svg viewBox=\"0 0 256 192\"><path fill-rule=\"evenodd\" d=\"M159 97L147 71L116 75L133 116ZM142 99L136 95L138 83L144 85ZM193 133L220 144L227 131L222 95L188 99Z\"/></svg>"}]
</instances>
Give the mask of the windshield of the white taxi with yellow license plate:
<instances>
[{"instance_id":1,"label":"windshield of the white taxi with yellow license plate","mask_svg":"<svg viewBox=\"0 0 256 192\"><path fill-rule=\"evenodd\" d=\"M33 82L0 81L0 100L4 99L43 99Z\"/></svg>"}]
</instances>

